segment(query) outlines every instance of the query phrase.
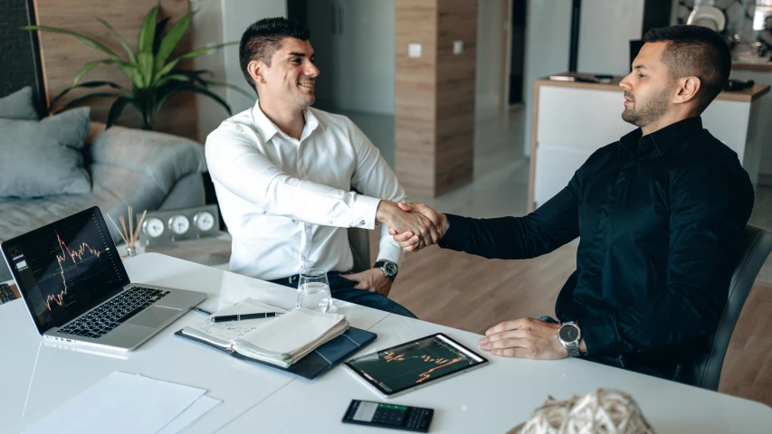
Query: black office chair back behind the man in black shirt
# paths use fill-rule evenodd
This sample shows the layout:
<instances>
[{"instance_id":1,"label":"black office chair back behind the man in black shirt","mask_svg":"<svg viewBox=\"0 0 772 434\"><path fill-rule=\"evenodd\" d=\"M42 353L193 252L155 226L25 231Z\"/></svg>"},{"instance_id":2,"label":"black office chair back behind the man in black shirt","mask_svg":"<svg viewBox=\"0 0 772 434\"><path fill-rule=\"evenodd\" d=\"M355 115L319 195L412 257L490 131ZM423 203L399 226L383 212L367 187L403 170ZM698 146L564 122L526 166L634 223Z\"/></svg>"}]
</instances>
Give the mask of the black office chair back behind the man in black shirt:
<instances>
[{"instance_id":1,"label":"black office chair back behind the man in black shirt","mask_svg":"<svg viewBox=\"0 0 772 434\"><path fill-rule=\"evenodd\" d=\"M710 339L710 352L688 367L683 374L685 382L711 391L719 390L721 367L739 314L758 276L758 270L772 251L772 231L748 224L742 237L742 256L729 283L729 300L720 317L719 328Z\"/></svg>"}]
</instances>

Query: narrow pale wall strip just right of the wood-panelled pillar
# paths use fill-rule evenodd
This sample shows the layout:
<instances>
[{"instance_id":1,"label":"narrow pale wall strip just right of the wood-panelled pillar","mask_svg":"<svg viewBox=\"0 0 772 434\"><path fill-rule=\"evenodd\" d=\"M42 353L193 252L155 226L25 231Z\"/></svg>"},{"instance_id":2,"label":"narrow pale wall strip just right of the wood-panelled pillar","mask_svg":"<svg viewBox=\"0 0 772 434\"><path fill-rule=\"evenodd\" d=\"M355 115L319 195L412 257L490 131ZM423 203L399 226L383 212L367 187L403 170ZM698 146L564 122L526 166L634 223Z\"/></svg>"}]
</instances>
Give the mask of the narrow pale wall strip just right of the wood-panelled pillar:
<instances>
[{"instance_id":1,"label":"narrow pale wall strip just right of the wood-panelled pillar","mask_svg":"<svg viewBox=\"0 0 772 434\"><path fill-rule=\"evenodd\" d=\"M509 0L478 0L477 61L475 71L474 114L487 118L503 109L505 61L508 47L505 36L508 17L502 16L504 3Z\"/></svg>"}]
</instances>

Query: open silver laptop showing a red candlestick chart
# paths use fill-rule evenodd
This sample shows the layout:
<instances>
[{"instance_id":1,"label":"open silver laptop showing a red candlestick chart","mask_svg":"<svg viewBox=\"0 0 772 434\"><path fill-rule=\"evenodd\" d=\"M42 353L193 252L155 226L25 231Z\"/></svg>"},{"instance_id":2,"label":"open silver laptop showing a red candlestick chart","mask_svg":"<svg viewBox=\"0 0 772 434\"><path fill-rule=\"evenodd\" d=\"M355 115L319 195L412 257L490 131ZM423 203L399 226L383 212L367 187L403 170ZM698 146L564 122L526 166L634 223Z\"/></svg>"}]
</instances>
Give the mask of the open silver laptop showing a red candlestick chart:
<instances>
[{"instance_id":1,"label":"open silver laptop showing a red candlestick chart","mask_svg":"<svg viewBox=\"0 0 772 434\"><path fill-rule=\"evenodd\" d=\"M98 207L0 244L38 333L130 351L205 300L131 283Z\"/></svg>"}]
</instances>

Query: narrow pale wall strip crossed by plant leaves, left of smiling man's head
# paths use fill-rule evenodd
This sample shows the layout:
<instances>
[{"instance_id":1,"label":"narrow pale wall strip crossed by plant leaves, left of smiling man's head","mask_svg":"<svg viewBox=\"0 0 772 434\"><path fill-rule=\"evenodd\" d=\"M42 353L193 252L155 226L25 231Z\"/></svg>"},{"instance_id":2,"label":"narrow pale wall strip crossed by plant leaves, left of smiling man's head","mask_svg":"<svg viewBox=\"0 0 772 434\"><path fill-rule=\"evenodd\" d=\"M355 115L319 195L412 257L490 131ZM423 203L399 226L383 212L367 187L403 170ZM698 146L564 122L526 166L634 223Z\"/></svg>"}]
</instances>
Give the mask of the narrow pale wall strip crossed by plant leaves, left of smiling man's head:
<instances>
[{"instance_id":1,"label":"narrow pale wall strip crossed by plant leaves, left of smiling man's head","mask_svg":"<svg viewBox=\"0 0 772 434\"><path fill-rule=\"evenodd\" d=\"M191 2L191 9L198 9L193 17L192 36L193 48L201 48L207 45L223 43L223 15L220 0L195 0ZM224 55L223 50L214 50L194 60L196 70L210 70L214 72L211 80L224 81ZM225 98L223 88L213 88L214 93ZM206 136L214 128L220 125L228 112L213 99L204 95L195 94L198 105L198 140L204 143Z\"/></svg>"}]
</instances>

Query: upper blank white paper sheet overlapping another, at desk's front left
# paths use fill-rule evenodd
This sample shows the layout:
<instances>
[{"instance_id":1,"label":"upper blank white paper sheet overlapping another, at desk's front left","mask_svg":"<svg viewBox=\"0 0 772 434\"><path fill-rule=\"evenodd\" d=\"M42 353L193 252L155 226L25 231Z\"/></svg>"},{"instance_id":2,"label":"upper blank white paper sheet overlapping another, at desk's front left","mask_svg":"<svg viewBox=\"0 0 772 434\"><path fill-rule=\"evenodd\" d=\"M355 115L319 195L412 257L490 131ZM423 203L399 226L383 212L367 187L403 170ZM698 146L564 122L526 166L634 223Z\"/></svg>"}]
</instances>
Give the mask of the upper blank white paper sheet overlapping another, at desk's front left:
<instances>
[{"instance_id":1,"label":"upper blank white paper sheet overlapping another, at desk's front left","mask_svg":"<svg viewBox=\"0 0 772 434\"><path fill-rule=\"evenodd\" d=\"M155 434L205 392L132 373L114 372L24 433Z\"/></svg>"}]
</instances>

